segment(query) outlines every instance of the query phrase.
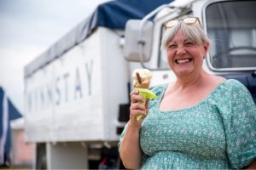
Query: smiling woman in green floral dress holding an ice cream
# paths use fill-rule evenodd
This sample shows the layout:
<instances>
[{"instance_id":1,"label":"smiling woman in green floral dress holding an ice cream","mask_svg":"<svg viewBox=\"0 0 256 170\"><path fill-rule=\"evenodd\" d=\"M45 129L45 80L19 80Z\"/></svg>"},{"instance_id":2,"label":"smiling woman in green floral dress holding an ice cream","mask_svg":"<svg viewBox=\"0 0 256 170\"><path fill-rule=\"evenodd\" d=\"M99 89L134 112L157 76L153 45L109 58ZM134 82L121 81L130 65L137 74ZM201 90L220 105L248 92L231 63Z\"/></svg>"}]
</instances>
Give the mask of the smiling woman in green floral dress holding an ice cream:
<instances>
[{"instance_id":1,"label":"smiling woman in green floral dress holding an ice cream","mask_svg":"<svg viewBox=\"0 0 256 170\"><path fill-rule=\"evenodd\" d=\"M131 93L130 121L119 143L122 161L142 169L255 166L253 98L241 82L204 71L210 41L198 18L188 20L167 22L162 42L177 81L153 88L158 98L146 106ZM148 116L137 122L145 110Z\"/></svg>"}]
</instances>

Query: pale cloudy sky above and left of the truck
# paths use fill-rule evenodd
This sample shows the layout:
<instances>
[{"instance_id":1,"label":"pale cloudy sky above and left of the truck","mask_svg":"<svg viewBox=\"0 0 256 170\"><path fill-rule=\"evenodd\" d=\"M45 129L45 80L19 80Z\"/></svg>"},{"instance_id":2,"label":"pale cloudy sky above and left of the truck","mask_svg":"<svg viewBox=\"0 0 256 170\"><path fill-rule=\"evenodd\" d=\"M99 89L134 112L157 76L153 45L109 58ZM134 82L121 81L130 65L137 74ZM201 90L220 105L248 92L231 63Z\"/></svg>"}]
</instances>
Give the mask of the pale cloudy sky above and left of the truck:
<instances>
[{"instance_id":1,"label":"pale cloudy sky above and left of the truck","mask_svg":"<svg viewBox=\"0 0 256 170\"><path fill-rule=\"evenodd\" d=\"M24 67L108 0L0 0L0 86L24 113Z\"/></svg>"}]
</instances>

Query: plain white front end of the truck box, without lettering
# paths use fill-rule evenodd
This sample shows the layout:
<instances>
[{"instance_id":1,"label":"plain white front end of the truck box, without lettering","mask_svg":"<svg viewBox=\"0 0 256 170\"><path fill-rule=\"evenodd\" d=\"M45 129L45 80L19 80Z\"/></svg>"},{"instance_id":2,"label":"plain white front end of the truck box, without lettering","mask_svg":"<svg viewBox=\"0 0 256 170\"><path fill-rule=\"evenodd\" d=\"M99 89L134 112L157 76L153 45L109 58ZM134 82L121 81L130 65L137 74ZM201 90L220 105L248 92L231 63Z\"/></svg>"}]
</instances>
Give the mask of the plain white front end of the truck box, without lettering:
<instances>
[{"instance_id":1,"label":"plain white front end of the truck box, without lettering","mask_svg":"<svg viewBox=\"0 0 256 170\"><path fill-rule=\"evenodd\" d=\"M102 77L104 99L104 139L118 140L116 133L118 125L119 105L129 101L128 82L129 69L123 49L119 45L120 36L115 31L102 29ZM105 43L108 42L108 43Z\"/></svg>"}]
</instances>

